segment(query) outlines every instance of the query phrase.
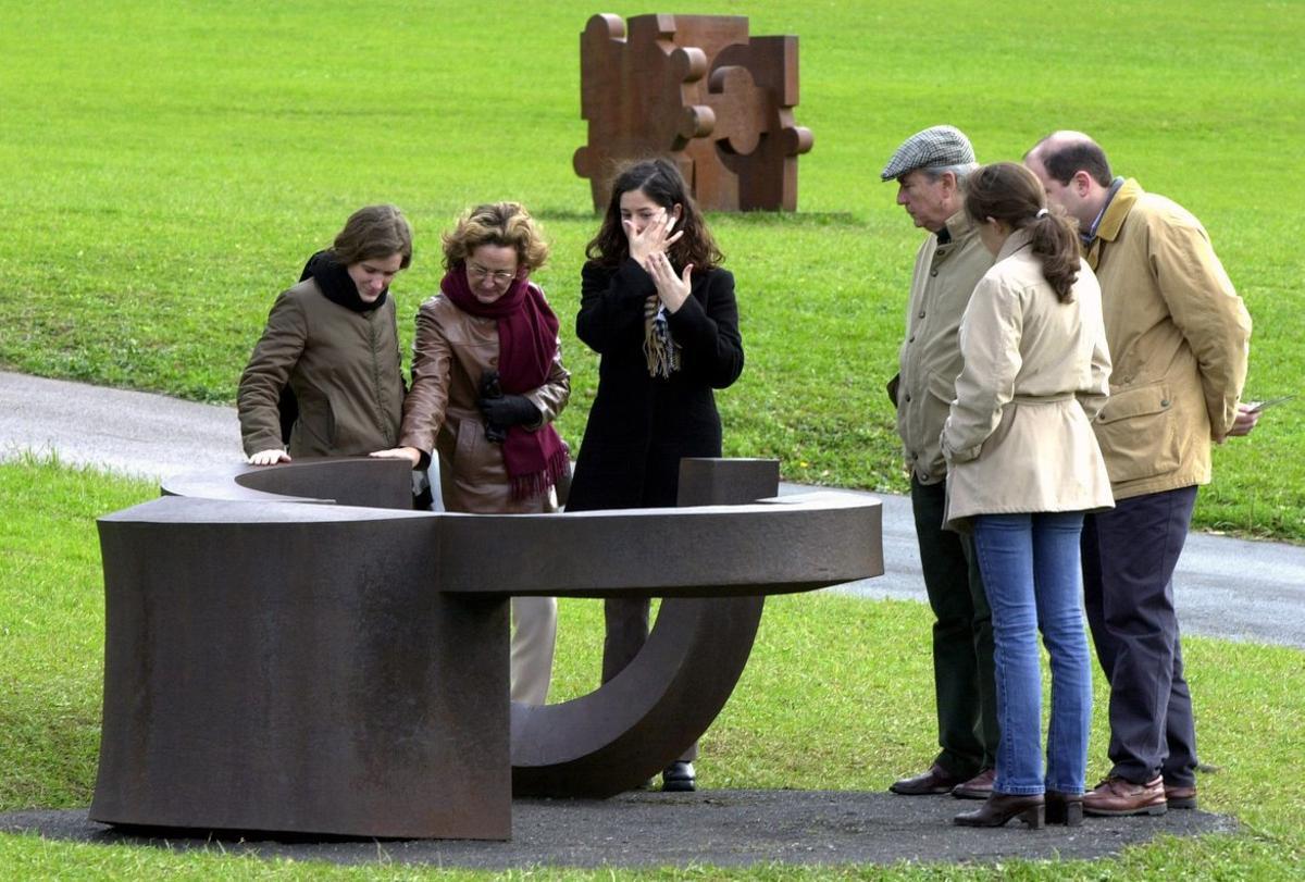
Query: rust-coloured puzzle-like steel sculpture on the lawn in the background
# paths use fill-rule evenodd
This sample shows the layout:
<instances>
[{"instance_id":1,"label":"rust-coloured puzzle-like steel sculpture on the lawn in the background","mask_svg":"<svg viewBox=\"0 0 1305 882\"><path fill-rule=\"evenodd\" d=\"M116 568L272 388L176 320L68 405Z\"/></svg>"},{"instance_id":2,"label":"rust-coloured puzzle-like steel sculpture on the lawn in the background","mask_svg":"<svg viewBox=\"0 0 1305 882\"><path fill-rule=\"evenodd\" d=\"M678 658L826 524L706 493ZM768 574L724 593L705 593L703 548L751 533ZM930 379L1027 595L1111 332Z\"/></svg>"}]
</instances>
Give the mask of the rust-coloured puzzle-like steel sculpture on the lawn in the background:
<instances>
[{"instance_id":1,"label":"rust-coloured puzzle-like steel sculpture on the lawn in the background","mask_svg":"<svg viewBox=\"0 0 1305 882\"><path fill-rule=\"evenodd\" d=\"M797 210L793 121L797 38L749 37L745 16L598 14L581 33L581 116L573 158L594 209L622 160L675 157L707 211Z\"/></svg>"}]
</instances>

